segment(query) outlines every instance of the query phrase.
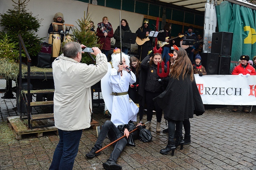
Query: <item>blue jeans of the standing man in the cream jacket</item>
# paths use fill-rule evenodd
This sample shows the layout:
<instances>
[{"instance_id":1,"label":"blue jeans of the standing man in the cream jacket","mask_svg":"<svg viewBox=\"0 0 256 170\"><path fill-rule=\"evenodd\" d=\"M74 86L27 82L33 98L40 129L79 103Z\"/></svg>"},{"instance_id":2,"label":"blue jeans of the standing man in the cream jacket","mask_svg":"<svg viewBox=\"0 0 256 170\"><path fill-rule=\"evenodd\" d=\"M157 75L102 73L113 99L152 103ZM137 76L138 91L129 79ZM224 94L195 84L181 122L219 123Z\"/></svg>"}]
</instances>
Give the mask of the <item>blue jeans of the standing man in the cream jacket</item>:
<instances>
[{"instance_id":1,"label":"blue jeans of the standing man in the cream jacket","mask_svg":"<svg viewBox=\"0 0 256 170\"><path fill-rule=\"evenodd\" d=\"M60 140L49 170L72 170L83 130L62 131L58 129L58 132Z\"/></svg>"}]
</instances>

